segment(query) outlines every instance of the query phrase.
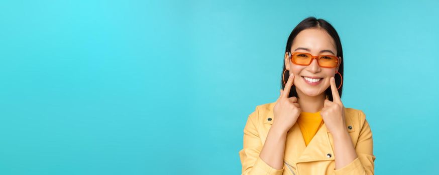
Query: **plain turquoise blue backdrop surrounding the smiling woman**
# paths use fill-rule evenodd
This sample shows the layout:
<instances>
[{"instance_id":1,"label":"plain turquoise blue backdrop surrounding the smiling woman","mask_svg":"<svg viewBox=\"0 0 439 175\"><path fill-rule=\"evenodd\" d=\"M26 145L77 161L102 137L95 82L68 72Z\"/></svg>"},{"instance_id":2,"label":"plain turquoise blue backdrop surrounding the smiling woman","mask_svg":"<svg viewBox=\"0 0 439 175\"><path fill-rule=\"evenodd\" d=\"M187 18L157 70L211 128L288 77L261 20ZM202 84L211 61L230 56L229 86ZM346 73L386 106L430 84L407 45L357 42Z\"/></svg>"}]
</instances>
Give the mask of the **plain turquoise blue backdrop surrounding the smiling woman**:
<instances>
[{"instance_id":1,"label":"plain turquoise blue backdrop surrounding the smiling woman","mask_svg":"<svg viewBox=\"0 0 439 175\"><path fill-rule=\"evenodd\" d=\"M307 16L338 30L342 101L377 174L437 174L438 1L3 0L0 174L240 174Z\"/></svg>"}]
</instances>

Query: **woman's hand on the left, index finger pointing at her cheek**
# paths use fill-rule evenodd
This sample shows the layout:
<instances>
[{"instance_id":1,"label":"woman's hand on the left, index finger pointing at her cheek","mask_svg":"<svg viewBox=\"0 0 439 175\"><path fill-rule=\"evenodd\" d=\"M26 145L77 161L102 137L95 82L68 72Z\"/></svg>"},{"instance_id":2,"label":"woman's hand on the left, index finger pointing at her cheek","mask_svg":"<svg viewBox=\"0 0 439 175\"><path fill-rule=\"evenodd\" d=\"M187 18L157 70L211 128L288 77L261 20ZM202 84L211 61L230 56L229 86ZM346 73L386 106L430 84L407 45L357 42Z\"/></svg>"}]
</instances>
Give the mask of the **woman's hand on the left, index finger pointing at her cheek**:
<instances>
[{"instance_id":1,"label":"woman's hand on the left, index finger pointing at her cheek","mask_svg":"<svg viewBox=\"0 0 439 175\"><path fill-rule=\"evenodd\" d=\"M294 75L290 73L284 90L280 89L280 96L276 100L273 108L273 125L272 127L287 132L296 123L302 109L295 96L289 97L291 86L293 85Z\"/></svg>"}]
</instances>

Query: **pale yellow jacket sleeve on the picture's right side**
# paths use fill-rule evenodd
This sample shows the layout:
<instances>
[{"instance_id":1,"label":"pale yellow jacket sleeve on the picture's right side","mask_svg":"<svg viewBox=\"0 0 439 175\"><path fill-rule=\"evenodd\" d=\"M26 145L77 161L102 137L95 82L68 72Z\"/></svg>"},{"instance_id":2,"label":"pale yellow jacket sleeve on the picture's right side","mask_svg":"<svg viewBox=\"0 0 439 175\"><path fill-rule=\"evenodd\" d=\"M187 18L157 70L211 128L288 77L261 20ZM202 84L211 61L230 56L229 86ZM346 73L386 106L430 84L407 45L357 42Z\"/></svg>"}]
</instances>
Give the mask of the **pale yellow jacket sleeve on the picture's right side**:
<instances>
[{"instance_id":1,"label":"pale yellow jacket sleeve on the picture's right side","mask_svg":"<svg viewBox=\"0 0 439 175\"><path fill-rule=\"evenodd\" d=\"M335 170L335 174L374 174L375 155L373 154L372 131L366 120L366 115L360 111L361 130L355 151L358 157L351 163Z\"/></svg>"}]
</instances>

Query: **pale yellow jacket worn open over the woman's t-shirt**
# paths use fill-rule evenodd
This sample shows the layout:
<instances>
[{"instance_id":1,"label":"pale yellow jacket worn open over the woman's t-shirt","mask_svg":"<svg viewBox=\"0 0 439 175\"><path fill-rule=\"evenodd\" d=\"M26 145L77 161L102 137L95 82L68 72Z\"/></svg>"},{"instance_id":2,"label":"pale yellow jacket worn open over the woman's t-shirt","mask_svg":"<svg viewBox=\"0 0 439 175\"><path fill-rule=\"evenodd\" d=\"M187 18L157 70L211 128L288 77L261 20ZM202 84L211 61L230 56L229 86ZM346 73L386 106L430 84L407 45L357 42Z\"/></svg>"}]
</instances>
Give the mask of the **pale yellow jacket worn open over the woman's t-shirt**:
<instances>
[{"instance_id":1,"label":"pale yellow jacket worn open over the woman's t-shirt","mask_svg":"<svg viewBox=\"0 0 439 175\"><path fill-rule=\"evenodd\" d=\"M243 149L239 151L242 174L373 174L374 161L372 131L363 111L344 108L346 127L351 135L358 158L343 168L335 170L334 141L323 124L305 146L297 124L287 132L284 166L275 169L265 163L259 153L273 123L276 102L256 106L244 127Z\"/></svg>"}]
</instances>

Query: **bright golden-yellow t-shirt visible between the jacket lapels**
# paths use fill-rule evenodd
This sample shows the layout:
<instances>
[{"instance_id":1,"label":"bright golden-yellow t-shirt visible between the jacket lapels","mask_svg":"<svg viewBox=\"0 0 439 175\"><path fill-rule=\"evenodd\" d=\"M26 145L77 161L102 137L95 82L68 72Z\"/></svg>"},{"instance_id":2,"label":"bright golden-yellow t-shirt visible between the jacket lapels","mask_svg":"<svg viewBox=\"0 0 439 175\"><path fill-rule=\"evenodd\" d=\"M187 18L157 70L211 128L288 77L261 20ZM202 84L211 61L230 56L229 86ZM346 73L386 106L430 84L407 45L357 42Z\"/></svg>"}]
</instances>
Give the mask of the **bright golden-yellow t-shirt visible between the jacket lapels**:
<instances>
[{"instance_id":1,"label":"bright golden-yellow t-shirt visible between the jacket lapels","mask_svg":"<svg viewBox=\"0 0 439 175\"><path fill-rule=\"evenodd\" d=\"M318 129L323 125L323 118L320 116L320 111L317 112L301 112L297 118L300 131L302 131L305 145L311 141Z\"/></svg>"}]
</instances>

